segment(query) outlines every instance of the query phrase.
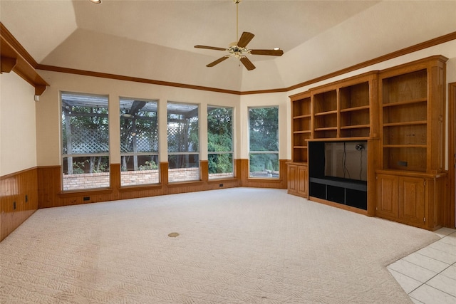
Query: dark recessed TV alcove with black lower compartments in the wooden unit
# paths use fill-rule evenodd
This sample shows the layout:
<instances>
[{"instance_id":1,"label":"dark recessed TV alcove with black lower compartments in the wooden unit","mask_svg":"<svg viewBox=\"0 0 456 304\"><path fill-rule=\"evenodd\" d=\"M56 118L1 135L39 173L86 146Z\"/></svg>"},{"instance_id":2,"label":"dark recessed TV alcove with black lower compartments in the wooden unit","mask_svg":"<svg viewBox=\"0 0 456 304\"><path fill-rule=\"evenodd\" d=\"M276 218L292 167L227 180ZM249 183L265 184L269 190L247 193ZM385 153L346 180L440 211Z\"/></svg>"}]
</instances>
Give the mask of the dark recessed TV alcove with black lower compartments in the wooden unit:
<instances>
[{"instance_id":1,"label":"dark recessed TV alcove with black lower compartments in the wooden unit","mask_svg":"<svg viewBox=\"0 0 456 304\"><path fill-rule=\"evenodd\" d=\"M309 142L309 196L367 210L366 141Z\"/></svg>"}]
</instances>

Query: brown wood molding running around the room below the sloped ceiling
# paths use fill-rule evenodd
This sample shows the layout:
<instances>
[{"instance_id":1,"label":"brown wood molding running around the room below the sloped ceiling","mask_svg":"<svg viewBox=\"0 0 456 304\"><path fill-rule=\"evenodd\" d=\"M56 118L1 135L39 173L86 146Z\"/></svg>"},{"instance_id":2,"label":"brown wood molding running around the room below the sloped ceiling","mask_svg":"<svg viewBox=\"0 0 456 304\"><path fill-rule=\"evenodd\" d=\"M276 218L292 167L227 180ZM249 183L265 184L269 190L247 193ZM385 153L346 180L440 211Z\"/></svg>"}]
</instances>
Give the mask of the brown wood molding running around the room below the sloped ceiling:
<instances>
[{"instance_id":1,"label":"brown wood molding running around the room below the sloped ceiling","mask_svg":"<svg viewBox=\"0 0 456 304\"><path fill-rule=\"evenodd\" d=\"M41 93L46 90L46 83L43 78L41 78L36 70L49 70L53 72L60 72L60 73L71 73L76 75L86 75L92 77L99 77L99 78L108 78L108 79L115 79L115 80L125 80L125 81L134 81L138 83L149 83L153 85L165 85L177 88L188 88L192 90L206 90L210 92L217 92L217 93L227 93L227 94L234 94L234 95L253 95L253 94L264 94L264 93L284 93L289 92L291 90L295 90L298 88L302 88L306 85L311 85L313 83L318 83L319 81L323 81L329 78L336 77L338 75L343 75L349 72L353 72L354 70L359 70L361 68L366 68L370 65L374 65L376 63L381 63L383 61L388 61L393 58L397 58L399 56L407 55L409 53L413 53L415 51L420 51L425 48L430 48L432 46L437 46L442 43L446 43L448 41L452 41L456 39L456 31L452 33L448 33L447 35L440 36L437 38L430 39L428 41L424 41L423 43L415 44L414 46L409 46L408 48L403 48L401 50L385 54L383 56L373 58L368 61L364 61L362 63L358 63L356 65L351 65L347 68L343 68L341 70L336 70L333 73L328 73L326 75L322 75L317 78L313 78L311 80L306 80L302 83L298 83L296 85L291 85L287 88L274 88L274 89L265 89L265 90L249 90L249 91L237 91L237 90L226 90L222 88L210 88L204 87L200 85L190 85L185 83L172 83L167 81L161 80L152 80L147 78L137 78L137 77L130 77L125 75L117 75L117 74L110 74L110 73L100 73L90 70L78 70L73 68L64 68L58 67L53 65L41 65L36 63L33 57L26 51L26 49L21 46L21 43L14 38L14 36L8 31L8 29L0 22L0 33L1 33L1 56L2 61L4 58L17 58L19 63L16 64L17 68L14 70L18 75L24 78L28 83L31 83L36 88L36 95L41 95ZM6 43L6 44L5 44ZM5 50L4 50L5 48ZM6 59L7 61L11 61L11 59ZM2 72L3 72L3 64L2 64Z\"/></svg>"}]
</instances>

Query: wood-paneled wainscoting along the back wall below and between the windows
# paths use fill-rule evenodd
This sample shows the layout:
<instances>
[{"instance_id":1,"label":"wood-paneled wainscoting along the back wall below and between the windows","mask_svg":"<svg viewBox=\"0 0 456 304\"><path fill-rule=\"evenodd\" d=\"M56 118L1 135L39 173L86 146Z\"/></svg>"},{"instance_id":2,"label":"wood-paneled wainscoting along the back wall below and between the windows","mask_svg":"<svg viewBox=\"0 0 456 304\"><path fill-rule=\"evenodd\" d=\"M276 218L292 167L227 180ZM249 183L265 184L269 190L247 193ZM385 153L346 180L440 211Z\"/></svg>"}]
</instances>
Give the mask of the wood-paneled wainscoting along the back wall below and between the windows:
<instances>
[{"instance_id":1,"label":"wood-paneled wainscoting along the back wall below and between the windows","mask_svg":"<svg viewBox=\"0 0 456 304\"><path fill-rule=\"evenodd\" d=\"M168 163L160 162L160 183L140 186L120 186L120 164L110 164L110 187L61 191L61 167L38 167L38 208L88 204L117 199L197 192L233 187L286 189L286 162L279 160L279 179L249 178L249 159L235 159L234 177L209 179L207 160L200 162L200 179L192 182L168 182Z\"/></svg>"}]
</instances>

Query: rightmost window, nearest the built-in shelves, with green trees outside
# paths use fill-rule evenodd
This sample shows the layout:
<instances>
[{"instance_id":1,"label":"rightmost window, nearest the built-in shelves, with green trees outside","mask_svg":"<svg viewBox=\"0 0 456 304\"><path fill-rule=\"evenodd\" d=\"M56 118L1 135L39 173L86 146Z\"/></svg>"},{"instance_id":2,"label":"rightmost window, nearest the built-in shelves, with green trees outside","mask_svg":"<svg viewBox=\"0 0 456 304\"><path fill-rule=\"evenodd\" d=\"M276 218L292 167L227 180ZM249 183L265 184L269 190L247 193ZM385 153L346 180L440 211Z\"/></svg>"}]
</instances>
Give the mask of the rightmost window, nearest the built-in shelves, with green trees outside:
<instances>
[{"instance_id":1,"label":"rightmost window, nearest the built-in shelves, with green trees outside","mask_svg":"<svg viewBox=\"0 0 456 304\"><path fill-rule=\"evenodd\" d=\"M249 176L279 178L279 108L249 108Z\"/></svg>"}]
</instances>

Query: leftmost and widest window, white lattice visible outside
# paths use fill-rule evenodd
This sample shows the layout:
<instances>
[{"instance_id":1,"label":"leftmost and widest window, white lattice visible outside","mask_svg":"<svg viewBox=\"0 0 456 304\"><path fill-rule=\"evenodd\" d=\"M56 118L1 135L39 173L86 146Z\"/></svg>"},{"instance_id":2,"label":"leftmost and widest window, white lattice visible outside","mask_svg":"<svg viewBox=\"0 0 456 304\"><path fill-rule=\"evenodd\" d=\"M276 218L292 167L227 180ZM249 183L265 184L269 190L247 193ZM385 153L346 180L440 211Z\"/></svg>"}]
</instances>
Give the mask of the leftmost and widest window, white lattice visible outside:
<instances>
[{"instance_id":1,"label":"leftmost and widest window, white lattice visible outside","mask_svg":"<svg viewBox=\"0 0 456 304\"><path fill-rule=\"evenodd\" d=\"M109 187L108 97L61 93L63 190Z\"/></svg>"}]
</instances>

